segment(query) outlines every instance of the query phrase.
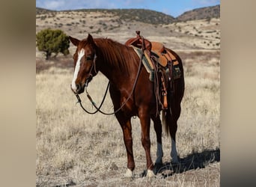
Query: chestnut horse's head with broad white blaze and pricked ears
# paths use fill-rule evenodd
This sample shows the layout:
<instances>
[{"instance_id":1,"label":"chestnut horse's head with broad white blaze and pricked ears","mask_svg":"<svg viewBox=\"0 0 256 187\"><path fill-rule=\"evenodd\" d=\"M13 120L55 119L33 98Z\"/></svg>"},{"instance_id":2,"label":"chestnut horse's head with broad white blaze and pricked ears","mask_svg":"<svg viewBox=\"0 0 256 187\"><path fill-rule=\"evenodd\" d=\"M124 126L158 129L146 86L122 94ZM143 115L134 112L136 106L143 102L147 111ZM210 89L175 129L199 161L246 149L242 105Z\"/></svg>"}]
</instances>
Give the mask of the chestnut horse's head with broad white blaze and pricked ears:
<instances>
[{"instance_id":1,"label":"chestnut horse's head with broad white blaze and pricked ears","mask_svg":"<svg viewBox=\"0 0 256 187\"><path fill-rule=\"evenodd\" d=\"M91 34L88 34L87 39L84 40L70 37L70 41L76 46L73 55L74 74L71 89L75 94L79 94L85 91L85 85L97 74L95 67L97 46Z\"/></svg>"}]
</instances>

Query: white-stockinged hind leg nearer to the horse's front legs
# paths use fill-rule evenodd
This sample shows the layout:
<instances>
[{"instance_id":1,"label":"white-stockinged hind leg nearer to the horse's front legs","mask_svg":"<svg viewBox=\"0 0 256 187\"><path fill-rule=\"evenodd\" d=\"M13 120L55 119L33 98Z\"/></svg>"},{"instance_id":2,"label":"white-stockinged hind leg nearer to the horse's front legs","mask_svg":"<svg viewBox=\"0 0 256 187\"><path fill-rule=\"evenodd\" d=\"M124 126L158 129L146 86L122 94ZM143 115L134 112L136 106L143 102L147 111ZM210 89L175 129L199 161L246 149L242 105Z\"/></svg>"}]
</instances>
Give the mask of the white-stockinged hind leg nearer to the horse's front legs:
<instances>
[{"instance_id":1,"label":"white-stockinged hind leg nearer to the horse's front legs","mask_svg":"<svg viewBox=\"0 0 256 187\"><path fill-rule=\"evenodd\" d=\"M162 165L162 123L159 115L156 114L151 115L151 119L153 120L153 127L156 132L156 141L157 141L157 149L156 149L156 165Z\"/></svg>"}]
</instances>

